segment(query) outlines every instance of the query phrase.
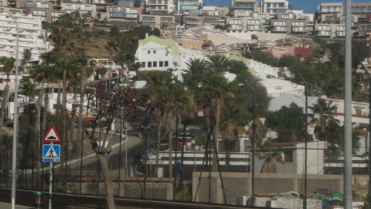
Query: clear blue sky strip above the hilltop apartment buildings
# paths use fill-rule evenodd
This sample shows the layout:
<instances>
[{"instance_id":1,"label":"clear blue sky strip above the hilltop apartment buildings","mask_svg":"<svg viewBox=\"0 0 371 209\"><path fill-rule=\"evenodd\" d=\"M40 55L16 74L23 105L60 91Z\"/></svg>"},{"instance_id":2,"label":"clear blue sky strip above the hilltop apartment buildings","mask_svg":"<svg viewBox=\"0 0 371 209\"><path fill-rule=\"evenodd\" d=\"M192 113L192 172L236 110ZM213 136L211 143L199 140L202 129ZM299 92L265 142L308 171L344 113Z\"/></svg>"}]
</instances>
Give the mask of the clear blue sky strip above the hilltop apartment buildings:
<instances>
[{"instance_id":1,"label":"clear blue sky strip above the hilltop apartment buildings","mask_svg":"<svg viewBox=\"0 0 371 209\"><path fill-rule=\"evenodd\" d=\"M207 4L209 1L209 4ZM258 0L260 5L260 0ZM310 3L310 11L316 12L317 5L321 3L333 3L333 2L342 2L345 5L345 0L289 0L289 4L292 6L293 9L303 8L304 12L309 11L309 3ZM370 0L352 0L352 3L359 3L359 2L370 2ZM230 0L203 0L203 3L209 6L231 6Z\"/></svg>"}]
</instances>

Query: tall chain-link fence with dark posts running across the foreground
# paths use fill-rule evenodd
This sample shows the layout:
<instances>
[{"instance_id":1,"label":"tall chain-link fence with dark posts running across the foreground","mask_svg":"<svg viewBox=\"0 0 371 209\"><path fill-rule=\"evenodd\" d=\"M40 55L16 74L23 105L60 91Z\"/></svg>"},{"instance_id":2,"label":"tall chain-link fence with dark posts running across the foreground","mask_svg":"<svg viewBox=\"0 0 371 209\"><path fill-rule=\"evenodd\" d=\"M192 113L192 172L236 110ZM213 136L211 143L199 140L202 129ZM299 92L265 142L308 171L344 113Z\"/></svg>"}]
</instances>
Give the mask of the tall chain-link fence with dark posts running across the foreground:
<instances>
[{"instance_id":1,"label":"tall chain-link fence with dark posts running across the foreground","mask_svg":"<svg viewBox=\"0 0 371 209\"><path fill-rule=\"evenodd\" d=\"M255 114L255 130L250 129L250 122L238 133L233 147L224 142L222 131L217 140L207 135L203 110L198 110L194 125L183 129L179 124L173 133L159 128L151 114L150 118L138 116L127 126L126 121L116 123L127 129L112 133L112 144L106 145L112 147L106 160L114 193L117 197L289 209L304 208L305 201L306 208L342 206L343 144L352 140L353 205L363 206L370 200L369 104L352 102L353 136L344 139L344 100L316 93L308 97L306 117L303 92L269 96L267 110ZM52 163L50 169L50 163L41 161L41 140L52 123L62 142L60 162ZM71 119L52 123L42 128L40 137L35 124L19 124L16 187L47 191L51 171L53 192L105 195L101 166L86 134ZM102 125L95 136L103 138L105 132ZM4 133L0 183L10 187L12 133Z\"/></svg>"}]
</instances>

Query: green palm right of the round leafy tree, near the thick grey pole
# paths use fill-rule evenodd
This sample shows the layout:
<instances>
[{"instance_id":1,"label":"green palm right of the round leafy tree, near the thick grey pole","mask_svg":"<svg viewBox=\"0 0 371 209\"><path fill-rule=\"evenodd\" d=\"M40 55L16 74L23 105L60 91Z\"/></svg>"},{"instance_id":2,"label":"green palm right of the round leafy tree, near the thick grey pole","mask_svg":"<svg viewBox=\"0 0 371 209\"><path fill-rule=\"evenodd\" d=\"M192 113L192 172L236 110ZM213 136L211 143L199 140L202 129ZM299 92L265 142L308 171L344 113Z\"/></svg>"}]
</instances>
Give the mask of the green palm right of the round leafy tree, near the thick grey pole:
<instances>
[{"instance_id":1,"label":"green palm right of the round leafy tree, near the thick grey pole","mask_svg":"<svg viewBox=\"0 0 371 209\"><path fill-rule=\"evenodd\" d=\"M334 118L335 114L333 112L338 107L332 105L332 102L333 101L330 100L327 104L326 100L319 98L316 104L308 107L313 112L308 114L312 118L309 123L316 124L314 128L314 134L317 139L321 138L320 135L325 132L325 128L328 122L330 120L336 120Z\"/></svg>"}]
</instances>

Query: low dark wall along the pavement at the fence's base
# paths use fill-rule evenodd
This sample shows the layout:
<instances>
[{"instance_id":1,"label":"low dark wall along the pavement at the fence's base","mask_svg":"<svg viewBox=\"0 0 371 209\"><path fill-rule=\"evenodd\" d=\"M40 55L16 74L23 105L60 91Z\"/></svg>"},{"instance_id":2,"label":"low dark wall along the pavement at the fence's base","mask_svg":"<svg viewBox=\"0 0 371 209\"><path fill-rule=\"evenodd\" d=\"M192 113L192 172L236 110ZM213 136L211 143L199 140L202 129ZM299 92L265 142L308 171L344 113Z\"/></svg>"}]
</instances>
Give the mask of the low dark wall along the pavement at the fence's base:
<instances>
[{"instance_id":1,"label":"low dark wall along the pavement at the fence's base","mask_svg":"<svg viewBox=\"0 0 371 209\"><path fill-rule=\"evenodd\" d=\"M47 208L49 195L44 193L42 195L43 204L40 208ZM33 191L17 190L16 204L27 207L37 207L35 204L35 196ZM0 202L10 203L10 189L0 189ZM211 205L199 203L186 202L168 202L157 200L143 200L143 199L125 199L115 198L117 209L246 209L246 207L234 207L226 205ZM46 206L46 207L45 207ZM52 198L53 209L105 209L106 199L104 196L85 196L79 194L62 194L53 193Z\"/></svg>"}]
</instances>

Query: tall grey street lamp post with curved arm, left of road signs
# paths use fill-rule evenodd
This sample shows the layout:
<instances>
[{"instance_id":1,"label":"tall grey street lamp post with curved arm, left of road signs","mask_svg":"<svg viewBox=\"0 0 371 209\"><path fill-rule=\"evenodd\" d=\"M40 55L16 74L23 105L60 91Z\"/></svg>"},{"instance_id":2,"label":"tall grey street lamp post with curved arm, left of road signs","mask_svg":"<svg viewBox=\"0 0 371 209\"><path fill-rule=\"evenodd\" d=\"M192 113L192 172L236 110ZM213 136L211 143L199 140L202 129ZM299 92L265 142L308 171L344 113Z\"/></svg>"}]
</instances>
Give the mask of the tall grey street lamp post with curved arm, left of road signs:
<instances>
[{"instance_id":1,"label":"tall grey street lamp post with curved arm, left of road signs","mask_svg":"<svg viewBox=\"0 0 371 209\"><path fill-rule=\"evenodd\" d=\"M15 209L16 206L16 180L17 180L17 120L18 120L18 65L19 65L19 26L17 20L12 14L6 11L2 11L10 15L16 23L17 27L17 46L16 46L16 70L14 79L14 122L13 122L13 153L12 153L12 197L11 197L11 208Z\"/></svg>"}]
</instances>

